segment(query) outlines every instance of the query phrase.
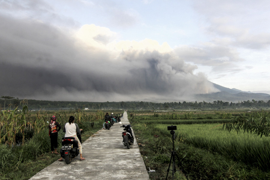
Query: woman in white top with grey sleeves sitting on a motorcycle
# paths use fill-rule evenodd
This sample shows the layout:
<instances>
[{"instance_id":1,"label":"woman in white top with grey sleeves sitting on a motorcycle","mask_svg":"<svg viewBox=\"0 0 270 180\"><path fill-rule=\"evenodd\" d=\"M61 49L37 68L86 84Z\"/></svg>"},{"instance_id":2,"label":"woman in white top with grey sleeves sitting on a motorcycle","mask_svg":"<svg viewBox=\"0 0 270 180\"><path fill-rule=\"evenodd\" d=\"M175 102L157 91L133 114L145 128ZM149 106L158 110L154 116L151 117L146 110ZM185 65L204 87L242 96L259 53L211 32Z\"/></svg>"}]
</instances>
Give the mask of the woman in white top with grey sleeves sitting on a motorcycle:
<instances>
[{"instance_id":1,"label":"woman in white top with grey sleeves sitting on a motorcycle","mask_svg":"<svg viewBox=\"0 0 270 180\"><path fill-rule=\"evenodd\" d=\"M73 116L70 116L68 123L64 125L63 132L66 133L65 137L74 137L75 140L78 141L78 146L79 146L79 151L80 151L80 160L85 160L85 158L82 157L82 144L76 135L77 133L80 134L80 129L79 129L78 124L74 123L74 121L75 121L75 118ZM62 161L62 160L63 160L62 157L58 159L58 161Z\"/></svg>"}]
</instances>

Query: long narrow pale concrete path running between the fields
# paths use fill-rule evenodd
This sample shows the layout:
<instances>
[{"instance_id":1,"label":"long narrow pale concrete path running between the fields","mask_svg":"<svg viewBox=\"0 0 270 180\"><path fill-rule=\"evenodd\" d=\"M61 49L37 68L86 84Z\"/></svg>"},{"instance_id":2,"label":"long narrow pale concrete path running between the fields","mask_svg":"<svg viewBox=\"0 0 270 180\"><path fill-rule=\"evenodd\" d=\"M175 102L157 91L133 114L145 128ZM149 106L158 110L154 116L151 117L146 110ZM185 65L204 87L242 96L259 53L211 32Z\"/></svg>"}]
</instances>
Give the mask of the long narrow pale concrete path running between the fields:
<instances>
[{"instance_id":1,"label":"long narrow pale concrete path running between the fields","mask_svg":"<svg viewBox=\"0 0 270 180\"><path fill-rule=\"evenodd\" d=\"M129 124L127 112L121 122ZM70 164L55 161L30 180L149 180L134 133L134 145L127 149L122 143L123 128L120 126L121 124L115 123L110 130L99 130L83 142L82 154L85 160L80 161L78 155Z\"/></svg>"}]
</instances>

